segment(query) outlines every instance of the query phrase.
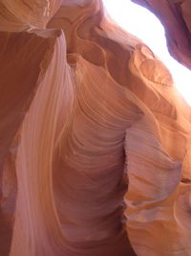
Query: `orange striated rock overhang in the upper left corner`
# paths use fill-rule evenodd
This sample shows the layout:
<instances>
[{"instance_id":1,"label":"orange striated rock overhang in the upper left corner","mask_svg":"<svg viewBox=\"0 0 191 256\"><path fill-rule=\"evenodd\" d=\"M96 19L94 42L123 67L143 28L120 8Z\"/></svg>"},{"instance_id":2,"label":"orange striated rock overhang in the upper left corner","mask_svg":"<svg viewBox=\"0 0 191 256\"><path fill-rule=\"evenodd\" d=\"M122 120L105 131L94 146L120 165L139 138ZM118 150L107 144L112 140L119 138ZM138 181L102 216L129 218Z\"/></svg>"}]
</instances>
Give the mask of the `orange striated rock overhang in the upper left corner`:
<instances>
[{"instance_id":1,"label":"orange striated rock overhang in the upper left corner","mask_svg":"<svg viewBox=\"0 0 191 256\"><path fill-rule=\"evenodd\" d=\"M61 0L1 0L0 31L45 29Z\"/></svg>"}]
</instances>

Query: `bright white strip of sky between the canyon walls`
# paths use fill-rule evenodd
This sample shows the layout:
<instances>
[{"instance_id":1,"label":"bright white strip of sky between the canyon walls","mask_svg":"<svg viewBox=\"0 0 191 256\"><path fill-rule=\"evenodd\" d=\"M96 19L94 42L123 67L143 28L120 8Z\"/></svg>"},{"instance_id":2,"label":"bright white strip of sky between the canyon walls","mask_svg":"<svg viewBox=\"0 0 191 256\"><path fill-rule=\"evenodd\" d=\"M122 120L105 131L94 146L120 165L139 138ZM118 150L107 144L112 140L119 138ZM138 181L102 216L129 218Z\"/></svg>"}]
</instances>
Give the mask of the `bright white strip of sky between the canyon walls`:
<instances>
[{"instance_id":1,"label":"bright white strip of sky between the canyon walls","mask_svg":"<svg viewBox=\"0 0 191 256\"><path fill-rule=\"evenodd\" d=\"M165 63L181 95L191 105L191 71L169 55L159 19L131 0L103 0L103 3L119 26L144 41Z\"/></svg>"}]
</instances>

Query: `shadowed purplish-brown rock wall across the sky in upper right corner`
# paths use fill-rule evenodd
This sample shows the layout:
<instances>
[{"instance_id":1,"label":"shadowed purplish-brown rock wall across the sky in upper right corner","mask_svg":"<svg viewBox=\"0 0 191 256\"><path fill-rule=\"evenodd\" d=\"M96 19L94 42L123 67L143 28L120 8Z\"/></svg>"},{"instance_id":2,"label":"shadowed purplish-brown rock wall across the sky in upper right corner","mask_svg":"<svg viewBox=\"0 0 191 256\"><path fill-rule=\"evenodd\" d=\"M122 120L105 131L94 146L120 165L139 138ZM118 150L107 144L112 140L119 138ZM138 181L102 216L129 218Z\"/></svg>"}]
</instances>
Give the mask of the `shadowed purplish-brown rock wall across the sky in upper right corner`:
<instances>
[{"instance_id":1,"label":"shadowed purplish-brown rock wall across the sky in upper right corner","mask_svg":"<svg viewBox=\"0 0 191 256\"><path fill-rule=\"evenodd\" d=\"M191 69L191 1L131 0L154 12L164 26L170 54Z\"/></svg>"}]
</instances>

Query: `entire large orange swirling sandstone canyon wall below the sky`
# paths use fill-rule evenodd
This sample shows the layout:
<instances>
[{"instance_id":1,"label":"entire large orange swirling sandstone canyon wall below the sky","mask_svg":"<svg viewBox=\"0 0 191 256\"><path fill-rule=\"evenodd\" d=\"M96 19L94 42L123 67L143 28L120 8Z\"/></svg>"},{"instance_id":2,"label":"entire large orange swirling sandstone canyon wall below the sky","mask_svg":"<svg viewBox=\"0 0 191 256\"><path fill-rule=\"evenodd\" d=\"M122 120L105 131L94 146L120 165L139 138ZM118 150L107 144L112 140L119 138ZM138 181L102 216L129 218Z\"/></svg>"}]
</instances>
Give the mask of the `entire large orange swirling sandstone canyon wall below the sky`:
<instances>
[{"instance_id":1,"label":"entire large orange swirling sandstone canyon wall below the sky","mask_svg":"<svg viewBox=\"0 0 191 256\"><path fill-rule=\"evenodd\" d=\"M191 109L101 1L2 1L0 255L191 255Z\"/></svg>"}]
</instances>

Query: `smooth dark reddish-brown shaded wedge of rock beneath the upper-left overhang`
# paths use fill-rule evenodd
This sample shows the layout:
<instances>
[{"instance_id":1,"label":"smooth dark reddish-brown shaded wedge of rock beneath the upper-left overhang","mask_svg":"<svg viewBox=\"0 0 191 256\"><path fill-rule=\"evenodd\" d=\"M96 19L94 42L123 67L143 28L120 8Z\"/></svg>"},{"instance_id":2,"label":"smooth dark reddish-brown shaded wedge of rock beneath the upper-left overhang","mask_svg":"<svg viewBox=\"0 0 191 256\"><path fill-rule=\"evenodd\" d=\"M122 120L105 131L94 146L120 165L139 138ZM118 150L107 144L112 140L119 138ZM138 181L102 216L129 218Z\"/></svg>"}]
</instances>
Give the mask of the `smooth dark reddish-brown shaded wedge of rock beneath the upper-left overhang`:
<instances>
[{"instance_id":1,"label":"smooth dark reddish-brown shaded wedge of rock beneath the upper-left overhang","mask_svg":"<svg viewBox=\"0 0 191 256\"><path fill-rule=\"evenodd\" d=\"M0 44L2 46L0 169L2 170L4 155L11 151L11 142L31 105L37 84L44 76L48 61L52 58L53 38L47 39L26 32L1 32ZM33 58L35 54L36 58Z\"/></svg>"}]
</instances>

